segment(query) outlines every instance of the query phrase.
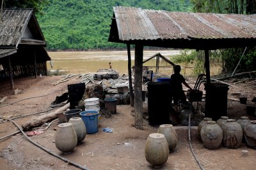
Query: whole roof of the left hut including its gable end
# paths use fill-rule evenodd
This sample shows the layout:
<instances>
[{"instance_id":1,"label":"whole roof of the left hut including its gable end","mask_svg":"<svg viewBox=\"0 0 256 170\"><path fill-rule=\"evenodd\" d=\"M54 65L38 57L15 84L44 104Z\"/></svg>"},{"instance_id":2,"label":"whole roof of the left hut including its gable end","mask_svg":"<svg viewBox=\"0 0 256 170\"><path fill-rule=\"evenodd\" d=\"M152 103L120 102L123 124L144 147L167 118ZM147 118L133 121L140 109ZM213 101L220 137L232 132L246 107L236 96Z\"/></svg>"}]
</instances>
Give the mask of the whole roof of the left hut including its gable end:
<instances>
[{"instance_id":1,"label":"whole roof of the left hut including its gable end","mask_svg":"<svg viewBox=\"0 0 256 170\"><path fill-rule=\"evenodd\" d=\"M44 45L45 38L33 9L5 9L0 24L0 49L19 44Z\"/></svg>"}]
</instances>

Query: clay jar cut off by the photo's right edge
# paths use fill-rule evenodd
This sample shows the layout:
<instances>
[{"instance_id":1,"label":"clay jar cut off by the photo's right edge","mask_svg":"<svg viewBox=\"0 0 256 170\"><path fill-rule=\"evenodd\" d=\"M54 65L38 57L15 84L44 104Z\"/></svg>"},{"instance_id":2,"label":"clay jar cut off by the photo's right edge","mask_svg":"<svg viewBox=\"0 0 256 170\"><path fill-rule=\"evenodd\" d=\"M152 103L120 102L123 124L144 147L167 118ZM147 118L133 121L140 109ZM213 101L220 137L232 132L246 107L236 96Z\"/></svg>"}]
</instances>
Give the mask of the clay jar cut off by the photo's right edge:
<instances>
[{"instance_id":1,"label":"clay jar cut off by the photo's right edge","mask_svg":"<svg viewBox=\"0 0 256 170\"><path fill-rule=\"evenodd\" d=\"M256 120L252 120L244 127L244 138L246 145L256 149Z\"/></svg>"}]
</instances>

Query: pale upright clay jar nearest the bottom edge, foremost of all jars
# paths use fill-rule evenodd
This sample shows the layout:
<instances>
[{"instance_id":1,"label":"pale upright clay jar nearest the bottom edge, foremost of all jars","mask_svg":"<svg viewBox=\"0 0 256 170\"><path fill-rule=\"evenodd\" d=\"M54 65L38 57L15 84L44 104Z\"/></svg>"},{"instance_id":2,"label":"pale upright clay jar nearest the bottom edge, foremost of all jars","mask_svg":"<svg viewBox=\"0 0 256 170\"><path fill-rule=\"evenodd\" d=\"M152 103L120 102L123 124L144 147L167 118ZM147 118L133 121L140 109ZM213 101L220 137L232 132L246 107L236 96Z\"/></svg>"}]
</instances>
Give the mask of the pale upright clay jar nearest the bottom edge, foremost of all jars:
<instances>
[{"instance_id":1,"label":"pale upright clay jar nearest the bottom edge, foremost of all jars","mask_svg":"<svg viewBox=\"0 0 256 170\"><path fill-rule=\"evenodd\" d=\"M162 166L169 156L168 142L164 134L152 133L145 146L145 158L154 167Z\"/></svg>"}]
</instances>

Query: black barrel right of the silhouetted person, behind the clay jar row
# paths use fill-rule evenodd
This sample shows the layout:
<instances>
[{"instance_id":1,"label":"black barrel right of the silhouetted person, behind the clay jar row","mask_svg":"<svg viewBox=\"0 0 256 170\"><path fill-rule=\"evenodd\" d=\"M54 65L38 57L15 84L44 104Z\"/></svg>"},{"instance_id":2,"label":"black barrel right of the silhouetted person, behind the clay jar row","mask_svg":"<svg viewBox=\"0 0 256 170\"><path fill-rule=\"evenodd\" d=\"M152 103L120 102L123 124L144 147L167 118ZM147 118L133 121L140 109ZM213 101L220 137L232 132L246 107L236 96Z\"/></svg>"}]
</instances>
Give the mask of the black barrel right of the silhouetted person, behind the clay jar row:
<instances>
[{"instance_id":1,"label":"black barrel right of the silhouetted person, behind the clay jar row","mask_svg":"<svg viewBox=\"0 0 256 170\"><path fill-rule=\"evenodd\" d=\"M216 121L227 116L228 85L223 83L205 83L205 117Z\"/></svg>"}]
</instances>

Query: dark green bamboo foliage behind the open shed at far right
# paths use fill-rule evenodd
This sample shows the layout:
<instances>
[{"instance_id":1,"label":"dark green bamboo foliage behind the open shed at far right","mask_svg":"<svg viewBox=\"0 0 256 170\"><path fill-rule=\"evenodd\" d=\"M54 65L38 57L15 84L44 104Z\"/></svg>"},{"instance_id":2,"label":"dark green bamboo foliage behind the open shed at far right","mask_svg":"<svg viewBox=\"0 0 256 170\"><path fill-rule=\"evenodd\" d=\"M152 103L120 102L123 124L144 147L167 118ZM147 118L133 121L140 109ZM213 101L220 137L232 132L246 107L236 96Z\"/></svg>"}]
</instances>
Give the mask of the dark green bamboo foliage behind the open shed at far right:
<instances>
[{"instance_id":1,"label":"dark green bamboo foliage behind the open shed at far right","mask_svg":"<svg viewBox=\"0 0 256 170\"><path fill-rule=\"evenodd\" d=\"M193 10L196 12L211 13L256 13L255 0L191 0ZM220 62L222 60L223 72L232 72L243 55L244 48L230 48L212 52L212 57ZM249 48L241 60L240 71L253 71L256 67L256 48Z\"/></svg>"}]
</instances>

